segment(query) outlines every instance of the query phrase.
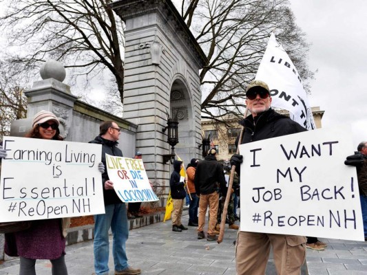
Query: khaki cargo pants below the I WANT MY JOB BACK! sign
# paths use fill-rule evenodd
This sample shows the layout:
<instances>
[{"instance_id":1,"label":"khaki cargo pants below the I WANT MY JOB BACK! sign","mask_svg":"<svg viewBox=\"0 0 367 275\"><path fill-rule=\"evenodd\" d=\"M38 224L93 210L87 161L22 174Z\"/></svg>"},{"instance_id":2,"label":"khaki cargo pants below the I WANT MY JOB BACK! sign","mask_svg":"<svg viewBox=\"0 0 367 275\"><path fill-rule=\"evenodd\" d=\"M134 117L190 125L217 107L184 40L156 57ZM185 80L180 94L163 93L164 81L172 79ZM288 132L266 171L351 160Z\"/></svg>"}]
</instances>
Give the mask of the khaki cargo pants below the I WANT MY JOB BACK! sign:
<instances>
[{"instance_id":1,"label":"khaki cargo pants below the I WANT MY JOB BACK! sign","mask_svg":"<svg viewBox=\"0 0 367 275\"><path fill-rule=\"evenodd\" d=\"M238 275L264 275L270 245L277 275L300 275L306 259L306 237L238 232L235 268Z\"/></svg>"}]
</instances>

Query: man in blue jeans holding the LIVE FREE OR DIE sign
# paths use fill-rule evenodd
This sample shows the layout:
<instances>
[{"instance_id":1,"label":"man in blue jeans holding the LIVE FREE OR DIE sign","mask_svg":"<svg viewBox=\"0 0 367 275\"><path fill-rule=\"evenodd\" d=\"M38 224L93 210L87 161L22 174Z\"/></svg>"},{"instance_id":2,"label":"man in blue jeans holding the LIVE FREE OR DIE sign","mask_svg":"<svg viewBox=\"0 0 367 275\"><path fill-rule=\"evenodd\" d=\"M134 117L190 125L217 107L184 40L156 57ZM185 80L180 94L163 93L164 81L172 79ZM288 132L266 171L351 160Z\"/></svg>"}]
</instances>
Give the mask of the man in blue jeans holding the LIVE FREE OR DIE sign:
<instances>
[{"instance_id":1,"label":"man in blue jeans holding the LIVE FREE OR DIE sign","mask_svg":"<svg viewBox=\"0 0 367 275\"><path fill-rule=\"evenodd\" d=\"M102 144L102 162L106 166L106 153L108 155L123 156L117 147L120 138L120 128L116 122L106 121L99 126L99 135L90 143ZM107 170L107 169L106 169ZM127 265L125 243L129 237L126 204L120 201L114 190L114 183L109 180L107 171L102 174L103 199L105 201L105 214L94 215L94 270L97 275L108 274L109 236L111 228L114 244L114 267L116 275L140 274L140 269Z\"/></svg>"}]
</instances>

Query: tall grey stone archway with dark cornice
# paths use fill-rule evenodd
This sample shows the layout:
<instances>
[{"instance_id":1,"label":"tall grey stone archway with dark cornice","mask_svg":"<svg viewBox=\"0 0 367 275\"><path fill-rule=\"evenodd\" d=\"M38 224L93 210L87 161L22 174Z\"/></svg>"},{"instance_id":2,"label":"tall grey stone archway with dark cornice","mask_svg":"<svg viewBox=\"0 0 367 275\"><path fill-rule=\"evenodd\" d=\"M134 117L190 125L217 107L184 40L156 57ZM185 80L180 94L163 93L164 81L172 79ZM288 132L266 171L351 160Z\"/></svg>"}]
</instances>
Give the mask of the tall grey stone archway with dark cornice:
<instances>
[{"instance_id":1,"label":"tall grey stone archway with dark cornice","mask_svg":"<svg viewBox=\"0 0 367 275\"><path fill-rule=\"evenodd\" d=\"M123 117L138 125L136 148L149 179L167 186L166 111L178 115L175 148L186 165L200 157L199 70L209 61L170 0L120 0L110 6L126 25Z\"/></svg>"}]
</instances>

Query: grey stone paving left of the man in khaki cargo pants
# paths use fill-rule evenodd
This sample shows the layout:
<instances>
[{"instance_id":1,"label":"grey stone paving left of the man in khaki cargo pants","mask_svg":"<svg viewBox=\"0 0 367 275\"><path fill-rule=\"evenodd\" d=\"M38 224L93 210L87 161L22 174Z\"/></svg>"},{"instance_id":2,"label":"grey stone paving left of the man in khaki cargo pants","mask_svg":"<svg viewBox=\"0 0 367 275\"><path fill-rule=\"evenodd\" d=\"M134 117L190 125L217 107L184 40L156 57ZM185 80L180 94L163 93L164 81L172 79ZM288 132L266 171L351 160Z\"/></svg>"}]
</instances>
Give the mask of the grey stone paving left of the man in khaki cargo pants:
<instances>
[{"instance_id":1,"label":"grey stone paving left of the man in khaki cargo pants","mask_svg":"<svg viewBox=\"0 0 367 275\"><path fill-rule=\"evenodd\" d=\"M188 215L182 217L187 225ZM196 227L172 232L171 220L154 223L143 228L130 230L127 241L129 265L139 267L142 274L198 275L235 274L234 245L237 230L226 225L224 241L198 240ZM111 245L110 245L111 246ZM65 261L69 275L85 275L94 272L93 242L86 241L67 246ZM50 261L36 262L37 275L50 275ZM109 274L114 274L112 252L109 255ZM0 265L0 275L16 275L19 259L6 261Z\"/></svg>"}]
</instances>

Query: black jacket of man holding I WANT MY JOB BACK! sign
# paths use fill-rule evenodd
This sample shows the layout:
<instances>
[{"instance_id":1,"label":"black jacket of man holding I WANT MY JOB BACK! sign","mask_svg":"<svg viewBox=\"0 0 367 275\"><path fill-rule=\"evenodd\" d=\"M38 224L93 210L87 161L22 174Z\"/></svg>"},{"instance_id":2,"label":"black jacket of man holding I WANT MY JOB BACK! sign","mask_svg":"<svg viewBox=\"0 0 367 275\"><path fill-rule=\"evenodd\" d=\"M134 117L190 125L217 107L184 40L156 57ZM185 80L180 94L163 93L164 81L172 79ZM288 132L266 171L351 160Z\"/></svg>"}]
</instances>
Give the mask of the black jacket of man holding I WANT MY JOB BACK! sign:
<instances>
[{"instance_id":1,"label":"black jacket of man holding I WANT MY JOB BACK! sign","mask_svg":"<svg viewBox=\"0 0 367 275\"><path fill-rule=\"evenodd\" d=\"M271 108L268 111L264 111L264 113L256 115L255 121L253 116L249 115L239 123L244 126L244 133L240 144L307 131L297 122L291 120L285 115L276 113ZM236 146L238 146L238 140L239 136L235 141ZM240 175L240 167L236 166L235 170L238 175Z\"/></svg>"}]
</instances>

